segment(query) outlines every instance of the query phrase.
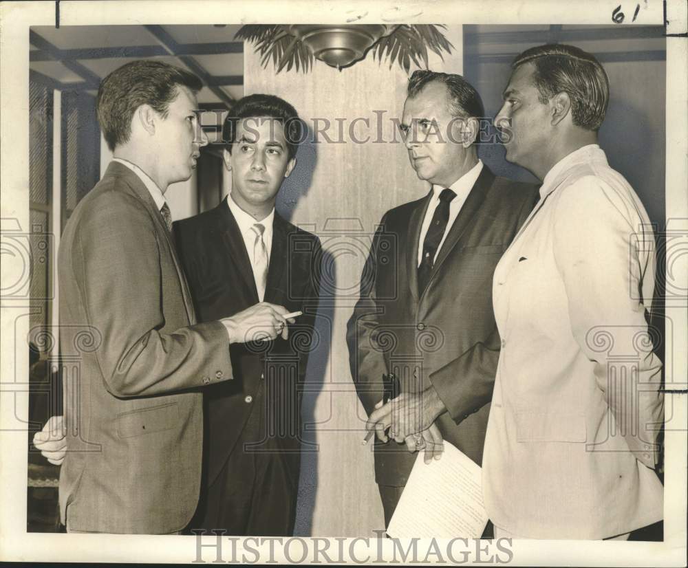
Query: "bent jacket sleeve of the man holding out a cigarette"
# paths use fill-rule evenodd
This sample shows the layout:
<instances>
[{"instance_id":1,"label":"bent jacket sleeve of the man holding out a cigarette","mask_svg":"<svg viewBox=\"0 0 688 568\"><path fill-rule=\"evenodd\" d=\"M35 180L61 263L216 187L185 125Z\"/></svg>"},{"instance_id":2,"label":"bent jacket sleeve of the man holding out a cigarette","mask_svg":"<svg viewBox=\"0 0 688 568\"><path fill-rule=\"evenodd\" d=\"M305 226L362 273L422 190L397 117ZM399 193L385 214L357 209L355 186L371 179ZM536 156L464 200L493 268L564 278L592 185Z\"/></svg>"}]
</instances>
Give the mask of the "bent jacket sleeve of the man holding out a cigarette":
<instances>
[{"instance_id":1,"label":"bent jacket sleeve of the man holding out a cigarette","mask_svg":"<svg viewBox=\"0 0 688 568\"><path fill-rule=\"evenodd\" d=\"M221 323L164 329L163 295L177 294L181 305L182 288L162 281L166 243L135 197L98 199L74 246L72 270L88 323L102 336L96 356L111 394L161 395L232 378Z\"/></svg>"}]
</instances>

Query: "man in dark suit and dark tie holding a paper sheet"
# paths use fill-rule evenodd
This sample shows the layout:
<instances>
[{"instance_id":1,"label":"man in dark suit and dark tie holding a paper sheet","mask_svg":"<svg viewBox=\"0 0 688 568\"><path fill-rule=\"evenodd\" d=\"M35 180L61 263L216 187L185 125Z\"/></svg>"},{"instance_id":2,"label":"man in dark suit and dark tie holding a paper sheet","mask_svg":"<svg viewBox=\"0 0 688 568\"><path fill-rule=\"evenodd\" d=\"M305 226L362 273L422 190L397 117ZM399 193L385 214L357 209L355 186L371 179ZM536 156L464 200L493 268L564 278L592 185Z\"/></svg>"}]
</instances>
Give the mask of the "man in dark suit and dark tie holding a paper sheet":
<instances>
[{"instance_id":1,"label":"man in dark suit and dark tie holding a paper sheet","mask_svg":"<svg viewBox=\"0 0 688 568\"><path fill-rule=\"evenodd\" d=\"M493 272L536 195L477 158L482 116L460 75L411 76L401 129L411 166L432 188L385 213L348 324L352 376L378 437L385 525L416 450L439 458L444 439L482 459L500 348ZM398 381L400 395L383 404L386 380ZM397 444L387 443L387 428Z\"/></svg>"}]
</instances>

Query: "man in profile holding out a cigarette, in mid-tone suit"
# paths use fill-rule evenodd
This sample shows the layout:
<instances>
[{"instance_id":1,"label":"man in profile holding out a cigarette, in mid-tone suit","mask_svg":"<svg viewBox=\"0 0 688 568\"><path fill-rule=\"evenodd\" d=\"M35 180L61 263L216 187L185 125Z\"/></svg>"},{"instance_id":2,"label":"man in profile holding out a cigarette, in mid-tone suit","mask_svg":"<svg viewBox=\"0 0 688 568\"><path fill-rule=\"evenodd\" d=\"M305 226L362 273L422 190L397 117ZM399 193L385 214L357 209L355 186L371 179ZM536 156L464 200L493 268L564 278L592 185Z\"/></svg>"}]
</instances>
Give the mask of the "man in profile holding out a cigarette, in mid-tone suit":
<instances>
[{"instance_id":1,"label":"man in profile holding out a cigarette, in mid-tone suit","mask_svg":"<svg viewBox=\"0 0 688 568\"><path fill-rule=\"evenodd\" d=\"M232 342L286 338L286 309L260 303L195 324L164 193L189 179L207 139L193 74L158 61L116 69L98 89L114 160L67 223L59 251L67 455L60 512L70 532L164 534L199 492L202 393L233 378ZM292 320L293 323L293 320Z\"/></svg>"}]
</instances>

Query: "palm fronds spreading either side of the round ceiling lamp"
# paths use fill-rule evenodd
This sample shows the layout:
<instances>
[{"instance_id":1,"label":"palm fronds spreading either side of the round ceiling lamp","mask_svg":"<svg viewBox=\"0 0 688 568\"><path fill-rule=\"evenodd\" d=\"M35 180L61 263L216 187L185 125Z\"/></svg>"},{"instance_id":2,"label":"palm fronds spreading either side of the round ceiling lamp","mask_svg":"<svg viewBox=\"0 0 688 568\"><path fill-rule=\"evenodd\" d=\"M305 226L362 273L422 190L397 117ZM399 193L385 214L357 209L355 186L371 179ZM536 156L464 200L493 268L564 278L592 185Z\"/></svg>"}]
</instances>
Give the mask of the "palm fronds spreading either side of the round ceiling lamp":
<instances>
[{"instance_id":1,"label":"palm fronds spreading either side of the round ceiling lamp","mask_svg":"<svg viewBox=\"0 0 688 568\"><path fill-rule=\"evenodd\" d=\"M235 35L235 39L246 40L255 45L255 50L261 56L261 65L265 68L268 63L277 68L277 73L286 67L287 71L292 69L302 69L303 72L310 71L313 60L316 58L312 47L307 41L303 41L293 28L297 26L289 25L243 25ZM362 28L363 26L355 26ZM338 30L347 28L339 26ZM380 26L369 26L369 28L380 28ZM444 37L440 28L446 29L444 25L396 25L390 26L387 34L383 35L375 43L367 48L361 57L354 59L347 65L333 65L338 69L349 67L360 61L372 51L374 59L380 61L389 59L389 68L394 62L398 63L405 72L411 69L411 63L418 67L428 66L428 50L435 52L442 58L442 52L451 54L454 47ZM323 59L324 61L324 59Z\"/></svg>"}]
</instances>

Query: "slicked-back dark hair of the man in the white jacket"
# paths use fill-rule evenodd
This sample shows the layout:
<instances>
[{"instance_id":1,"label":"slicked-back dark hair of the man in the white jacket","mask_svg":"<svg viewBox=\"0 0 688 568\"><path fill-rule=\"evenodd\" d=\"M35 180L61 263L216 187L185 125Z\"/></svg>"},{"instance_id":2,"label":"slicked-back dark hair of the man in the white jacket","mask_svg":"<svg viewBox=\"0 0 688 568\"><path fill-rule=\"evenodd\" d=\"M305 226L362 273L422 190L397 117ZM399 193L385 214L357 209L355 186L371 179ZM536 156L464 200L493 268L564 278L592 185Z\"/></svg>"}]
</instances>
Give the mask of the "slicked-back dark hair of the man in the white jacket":
<instances>
[{"instance_id":1,"label":"slicked-back dark hair of the man in the white jacket","mask_svg":"<svg viewBox=\"0 0 688 568\"><path fill-rule=\"evenodd\" d=\"M530 47L511 64L533 63L533 78L543 104L558 93L571 99L573 124L598 131L609 102L609 78L600 62L578 47L563 44Z\"/></svg>"}]
</instances>

